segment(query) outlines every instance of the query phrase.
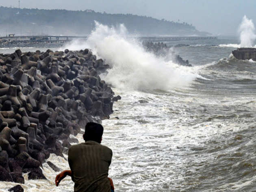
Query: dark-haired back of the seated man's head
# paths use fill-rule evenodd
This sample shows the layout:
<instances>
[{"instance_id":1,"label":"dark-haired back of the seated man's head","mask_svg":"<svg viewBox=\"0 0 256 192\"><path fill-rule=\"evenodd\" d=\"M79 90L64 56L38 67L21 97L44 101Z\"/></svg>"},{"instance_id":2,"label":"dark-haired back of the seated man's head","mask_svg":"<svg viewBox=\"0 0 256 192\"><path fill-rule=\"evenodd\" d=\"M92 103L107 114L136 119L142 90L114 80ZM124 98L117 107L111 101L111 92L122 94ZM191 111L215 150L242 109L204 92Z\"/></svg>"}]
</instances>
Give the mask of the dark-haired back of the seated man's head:
<instances>
[{"instance_id":1,"label":"dark-haired back of the seated man's head","mask_svg":"<svg viewBox=\"0 0 256 192\"><path fill-rule=\"evenodd\" d=\"M103 127L98 123L89 122L85 126L85 134L83 135L84 140L93 140L101 143L103 134Z\"/></svg>"}]
</instances>

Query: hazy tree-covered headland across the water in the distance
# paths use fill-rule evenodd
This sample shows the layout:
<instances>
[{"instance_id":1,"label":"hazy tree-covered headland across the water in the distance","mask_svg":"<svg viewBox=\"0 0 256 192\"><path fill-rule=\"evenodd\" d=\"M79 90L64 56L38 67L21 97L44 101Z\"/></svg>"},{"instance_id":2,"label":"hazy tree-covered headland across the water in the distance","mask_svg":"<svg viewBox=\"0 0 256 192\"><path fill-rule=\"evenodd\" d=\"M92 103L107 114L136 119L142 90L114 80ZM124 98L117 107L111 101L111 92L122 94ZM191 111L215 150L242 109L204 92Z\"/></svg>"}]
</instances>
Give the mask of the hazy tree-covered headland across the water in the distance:
<instances>
[{"instance_id":1,"label":"hazy tree-covered headland across the water in the distance","mask_svg":"<svg viewBox=\"0 0 256 192\"><path fill-rule=\"evenodd\" d=\"M18 9L0 6L0 37L16 35L89 35L98 21L107 26L124 24L132 35L208 36L192 24L132 14L108 14L93 10L68 11Z\"/></svg>"}]
</instances>

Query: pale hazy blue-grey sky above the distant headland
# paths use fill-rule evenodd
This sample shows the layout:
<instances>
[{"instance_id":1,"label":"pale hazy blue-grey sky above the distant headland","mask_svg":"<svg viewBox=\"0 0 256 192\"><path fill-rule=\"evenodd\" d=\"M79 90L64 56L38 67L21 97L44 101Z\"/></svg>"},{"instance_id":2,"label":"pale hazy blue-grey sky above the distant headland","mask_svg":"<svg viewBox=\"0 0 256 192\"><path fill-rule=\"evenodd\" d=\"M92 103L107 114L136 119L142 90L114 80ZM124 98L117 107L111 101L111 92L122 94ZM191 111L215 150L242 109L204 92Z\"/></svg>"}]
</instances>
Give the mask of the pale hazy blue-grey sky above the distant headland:
<instances>
[{"instance_id":1,"label":"pale hazy blue-grey sky above the distant headland","mask_svg":"<svg viewBox=\"0 0 256 192\"><path fill-rule=\"evenodd\" d=\"M0 6L18 7L18 0L0 0ZM21 8L93 9L131 13L187 22L214 35L237 35L242 17L256 23L256 0L20 0Z\"/></svg>"}]
</instances>

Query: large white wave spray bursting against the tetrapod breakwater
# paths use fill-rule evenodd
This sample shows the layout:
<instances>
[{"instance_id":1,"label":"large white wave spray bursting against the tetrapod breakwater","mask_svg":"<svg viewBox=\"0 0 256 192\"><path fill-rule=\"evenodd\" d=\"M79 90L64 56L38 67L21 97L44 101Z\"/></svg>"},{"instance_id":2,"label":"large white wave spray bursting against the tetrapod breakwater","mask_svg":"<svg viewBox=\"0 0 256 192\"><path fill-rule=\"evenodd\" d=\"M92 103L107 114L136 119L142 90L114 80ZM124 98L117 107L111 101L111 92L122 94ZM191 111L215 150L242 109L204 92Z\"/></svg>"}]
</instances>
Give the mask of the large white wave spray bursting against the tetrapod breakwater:
<instances>
[{"instance_id":1,"label":"large white wave spray bursting against the tetrapod breakwater","mask_svg":"<svg viewBox=\"0 0 256 192\"><path fill-rule=\"evenodd\" d=\"M69 50L90 47L111 66L104 80L121 90L169 90L188 86L196 75L186 67L166 62L146 52L141 43L128 37L123 24L108 27L96 22L87 41L74 41Z\"/></svg>"}]
</instances>

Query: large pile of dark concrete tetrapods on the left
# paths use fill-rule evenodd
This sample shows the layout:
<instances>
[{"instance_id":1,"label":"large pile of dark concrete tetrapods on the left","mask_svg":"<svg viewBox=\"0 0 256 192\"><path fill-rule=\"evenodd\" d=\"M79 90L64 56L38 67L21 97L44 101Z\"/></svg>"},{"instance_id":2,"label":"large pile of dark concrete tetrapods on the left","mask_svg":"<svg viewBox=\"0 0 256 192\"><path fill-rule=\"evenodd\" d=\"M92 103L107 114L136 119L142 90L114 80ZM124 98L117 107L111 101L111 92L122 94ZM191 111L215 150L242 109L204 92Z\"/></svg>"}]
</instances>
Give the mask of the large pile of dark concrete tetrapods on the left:
<instances>
[{"instance_id":1,"label":"large pile of dark concrete tetrapods on the left","mask_svg":"<svg viewBox=\"0 0 256 192\"><path fill-rule=\"evenodd\" d=\"M88 49L0 54L0 181L46 179L50 153L63 156L87 122L109 118L121 97L100 79L106 69Z\"/></svg>"}]
</instances>

